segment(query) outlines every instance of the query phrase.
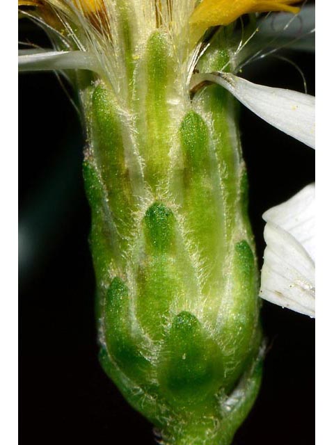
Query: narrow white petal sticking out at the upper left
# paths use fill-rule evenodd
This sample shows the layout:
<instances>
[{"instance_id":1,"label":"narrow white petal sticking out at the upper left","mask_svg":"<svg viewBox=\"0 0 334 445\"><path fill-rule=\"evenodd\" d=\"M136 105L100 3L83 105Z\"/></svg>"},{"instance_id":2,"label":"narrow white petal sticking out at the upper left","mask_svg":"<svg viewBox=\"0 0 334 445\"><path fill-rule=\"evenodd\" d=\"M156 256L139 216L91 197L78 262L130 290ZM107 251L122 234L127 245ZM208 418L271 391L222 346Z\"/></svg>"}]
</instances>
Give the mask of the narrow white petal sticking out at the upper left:
<instances>
[{"instance_id":1,"label":"narrow white petal sticking out at the upper left","mask_svg":"<svg viewBox=\"0 0 334 445\"><path fill-rule=\"evenodd\" d=\"M19 71L91 70L97 71L97 63L85 51L19 51Z\"/></svg>"}]
</instances>

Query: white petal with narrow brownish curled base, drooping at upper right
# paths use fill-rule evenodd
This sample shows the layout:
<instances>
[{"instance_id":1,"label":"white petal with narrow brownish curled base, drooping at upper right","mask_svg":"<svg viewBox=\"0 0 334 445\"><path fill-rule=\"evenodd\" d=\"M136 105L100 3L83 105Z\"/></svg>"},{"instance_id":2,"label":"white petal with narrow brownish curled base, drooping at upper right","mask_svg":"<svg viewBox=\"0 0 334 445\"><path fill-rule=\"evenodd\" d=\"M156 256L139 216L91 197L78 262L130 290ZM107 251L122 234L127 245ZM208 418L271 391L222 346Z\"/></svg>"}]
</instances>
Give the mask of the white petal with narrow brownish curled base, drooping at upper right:
<instances>
[{"instance_id":1,"label":"white petal with narrow brownish curled base, drooping at upper right","mask_svg":"<svg viewBox=\"0 0 334 445\"><path fill-rule=\"evenodd\" d=\"M205 82L218 83L273 127L315 148L315 97L257 85L229 73L194 74L191 88Z\"/></svg>"}]
</instances>

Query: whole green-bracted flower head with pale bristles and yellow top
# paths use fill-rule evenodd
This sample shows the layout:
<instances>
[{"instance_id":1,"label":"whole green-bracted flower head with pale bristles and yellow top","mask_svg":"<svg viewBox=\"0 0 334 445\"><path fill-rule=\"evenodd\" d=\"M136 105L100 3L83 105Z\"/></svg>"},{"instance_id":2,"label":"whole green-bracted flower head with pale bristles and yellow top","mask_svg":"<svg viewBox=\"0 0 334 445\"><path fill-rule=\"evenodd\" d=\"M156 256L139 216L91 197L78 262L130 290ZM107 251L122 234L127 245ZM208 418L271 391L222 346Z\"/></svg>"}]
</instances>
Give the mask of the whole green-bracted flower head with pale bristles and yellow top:
<instances>
[{"instance_id":1,"label":"whole green-bracted flower head with pale bristles and yellow top","mask_svg":"<svg viewBox=\"0 0 334 445\"><path fill-rule=\"evenodd\" d=\"M240 79L243 38L235 48L225 26L244 13L295 13L290 3L19 1L35 7L54 44L21 55L21 66L72 70L81 99L101 362L164 443L230 444L260 385L258 270L234 97L311 146L314 100ZM263 293L273 286L267 280Z\"/></svg>"}]
</instances>

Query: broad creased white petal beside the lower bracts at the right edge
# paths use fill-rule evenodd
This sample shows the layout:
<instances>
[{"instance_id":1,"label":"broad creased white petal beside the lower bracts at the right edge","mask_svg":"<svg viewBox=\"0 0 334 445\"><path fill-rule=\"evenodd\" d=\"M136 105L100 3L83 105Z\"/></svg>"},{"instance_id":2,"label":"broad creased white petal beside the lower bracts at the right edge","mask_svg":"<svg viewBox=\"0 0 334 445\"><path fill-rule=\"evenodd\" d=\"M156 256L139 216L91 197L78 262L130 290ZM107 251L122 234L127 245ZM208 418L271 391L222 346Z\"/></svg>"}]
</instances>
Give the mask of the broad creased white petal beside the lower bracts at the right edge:
<instances>
[{"instance_id":1,"label":"broad creased white petal beside the lower bracts at the right edge","mask_svg":"<svg viewBox=\"0 0 334 445\"><path fill-rule=\"evenodd\" d=\"M264 264L260 296L315 316L315 188L264 213Z\"/></svg>"}]
</instances>

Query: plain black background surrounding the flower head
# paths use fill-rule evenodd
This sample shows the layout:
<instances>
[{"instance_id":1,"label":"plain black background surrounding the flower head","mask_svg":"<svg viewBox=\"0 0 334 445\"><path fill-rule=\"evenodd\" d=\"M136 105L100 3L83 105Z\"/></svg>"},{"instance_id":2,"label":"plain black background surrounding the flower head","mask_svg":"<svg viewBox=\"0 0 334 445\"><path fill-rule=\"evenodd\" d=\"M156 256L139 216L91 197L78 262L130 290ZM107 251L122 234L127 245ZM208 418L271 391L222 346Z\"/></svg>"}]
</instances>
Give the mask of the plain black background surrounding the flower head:
<instances>
[{"instance_id":1,"label":"plain black background surrounding the flower head","mask_svg":"<svg viewBox=\"0 0 334 445\"><path fill-rule=\"evenodd\" d=\"M43 40L23 22L22 40L27 35ZM285 56L303 70L314 95L314 56ZM303 90L294 67L274 58L243 74ZM97 361L84 139L54 74L19 76L19 124L20 443L154 444L150 423L127 405ZM314 180L314 152L246 108L241 131L261 263L261 215ZM314 444L315 323L264 302L262 324L270 345L262 389L234 445Z\"/></svg>"}]
</instances>

